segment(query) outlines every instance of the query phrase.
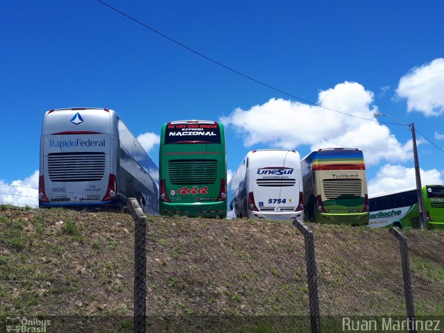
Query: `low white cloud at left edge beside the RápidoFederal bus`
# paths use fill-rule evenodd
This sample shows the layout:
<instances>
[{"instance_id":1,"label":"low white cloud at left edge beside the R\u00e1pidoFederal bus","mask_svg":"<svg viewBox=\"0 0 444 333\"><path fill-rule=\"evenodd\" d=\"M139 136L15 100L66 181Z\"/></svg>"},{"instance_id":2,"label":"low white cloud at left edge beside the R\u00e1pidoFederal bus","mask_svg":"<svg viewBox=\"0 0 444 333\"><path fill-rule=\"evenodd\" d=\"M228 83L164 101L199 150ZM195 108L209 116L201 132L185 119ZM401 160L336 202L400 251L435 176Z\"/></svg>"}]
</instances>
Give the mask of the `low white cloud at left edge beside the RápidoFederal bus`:
<instances>
[{"instance_id":1,"label":"low white cloud at left edge beside the R\u00e1pidoFederal bus","mask_svg":"<svg viewBox=\"0 0 444 333\"><path fill-rule=\"evenodd\" d=\"M14 180L10 184L0 180L0 203L38 207L38 186L38 170L24 180Z\"/></svg>"}]
</instances>

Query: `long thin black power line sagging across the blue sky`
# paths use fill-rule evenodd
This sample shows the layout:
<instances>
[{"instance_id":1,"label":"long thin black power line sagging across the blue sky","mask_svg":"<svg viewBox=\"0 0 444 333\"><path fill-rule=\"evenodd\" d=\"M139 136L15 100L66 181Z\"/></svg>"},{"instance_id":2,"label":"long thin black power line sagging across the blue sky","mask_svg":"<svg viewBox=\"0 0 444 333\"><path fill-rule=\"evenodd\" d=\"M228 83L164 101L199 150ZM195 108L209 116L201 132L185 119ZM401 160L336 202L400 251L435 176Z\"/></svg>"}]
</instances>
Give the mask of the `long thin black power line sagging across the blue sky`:
<instances>
[{"instance_id":1,"label":"long thin black power line sagging across the blue sky","mask_svg":"<svg viewBox=\"0 0 444 333\"><path fill-rule=\"evenodd\" d=\"M169 40L170 42L173 42L174 44L177 44L178 46L180 46L180 47L182 47L182 48L184 48L184 49L190 51L191 53L194 53L194 54L196 54L197 56L200 56L201 58L204 58L205 60L208 60L208 61L214 63L215 65L218 65L218 66L220 66L220 67L222 67L222 68L224 68L224 69L227 69L228 71L232 71L232 73L234 73L234 74L237 74L237 75L242 76L242 77L244 77L244 78L246 78L246 79L248 79L248 80L251 80L251 81L253 81L253 82L255 82L255 83L258 83L259 85L263 85L264 87L267 87L267 88L269 88L269 89L273 89L273 90L275 90L275 92L280 92L281 94L284 94L284 95L290 96L290 97L293 98L293 99L296 99L296 100L298 100L298 101L302 101L302 102L307 103L307 104L309 104L309 105L317 106L318 108L323 108L323 109L325 109L325 110L330 110L330 111L332 111L332 112L336 112L336 113L339 113L339 114L344 114L344 115L349 116L349 117L355 117L355 118L363 119L363 120L367 120L367 121L374 121L374 122L377 122L377 123L386 123L386 124L389 124L389 125L404 126L404 125L402 125L402 124L400 124L400 123L391 123L391 122L386 122L386 121L378 121L377 119L370 119L370 118L366 118L366 117L359 117L359 116L357 116L357 115L355 115L355 114L350 114L350 113L347 113L347 112L341 112L341 111L338 111L338 110L334 110L334 109L332 109L332 108L327 108L326 106L320 105L320 104L318 104L318 103L314 103L314 102L311 102L311 101L307 101L306 99L302 99L302 98L300 98L300 97L298 97L298 96L295 96L295 95L293 95L293 94L290 94L289 92L285 92L285 91L282 90L282 89L278 89L278 88L276 88L276 87L273 87L272 85L268 85L268 84L266 84L266 83L264 83L264 82L262 82L262 81L260 81L260 80L257 80L257 79L255 79L255 78L253 78L253 77L251 77L251 76L248 76L248 75L246 75L246 74L244 74L244 73L241 73L240 71L237 71L236 69L232 69L232 67L229 67L229 66L227 66L227 65L223 65L221 62L219 62L219 61L217 61L217 60L214 60L214 59L212 59L212 58L210 58L210 57L208 57L208 56L205 56L205 54L200 53L200 52L198 52L198 51L196 51L196 50L194 50L194 49L191 49L191 47L189 47L189 46L187 46L187 45L185 45L185 44L182 44L181 42L178 42L177 40L174 40L173 38L171 38L171 37L165 35L164 33L161 33L160 31L157 31L155 28L151 28L151 26L148 26L147 24L144 24L143 22L140 22L138 19L135 19L134 17L132 17L132 16L126 14L125 12L122 12L121 10L118 10L117 8L114 8L114 7L110 6L108 3L105 3L104 1L101 1L101 0L97 0L97 1L99 1L99 3L102 3L104 6L107 6L108 8L114 10L115 12L118 12L120 15L123 15L124 17L127 17L128 19L132 20L133 22L136 22L137 24L140 24L140 25L143 26L144 28L147 28L147 29L149 29L150 31L153 31L153 33L157 33L157 35L160 35L161 37L166 38L166 39ZM430 142L431 144L433 144L434 146L436 146L436 144L434 144L432 141L430 141L429 139L427 139L427 137L425 137L424 135L422 135L418 130L416 130L416 131L417 131L422 137L424 137L428 142ZM443 149L439 148L438 146L436 146L436 148L438 148L438 149L440 149L441 151L443 151ZM444 152L444 151L443 151L443 152Z\"/></svg>"}]
</instances>

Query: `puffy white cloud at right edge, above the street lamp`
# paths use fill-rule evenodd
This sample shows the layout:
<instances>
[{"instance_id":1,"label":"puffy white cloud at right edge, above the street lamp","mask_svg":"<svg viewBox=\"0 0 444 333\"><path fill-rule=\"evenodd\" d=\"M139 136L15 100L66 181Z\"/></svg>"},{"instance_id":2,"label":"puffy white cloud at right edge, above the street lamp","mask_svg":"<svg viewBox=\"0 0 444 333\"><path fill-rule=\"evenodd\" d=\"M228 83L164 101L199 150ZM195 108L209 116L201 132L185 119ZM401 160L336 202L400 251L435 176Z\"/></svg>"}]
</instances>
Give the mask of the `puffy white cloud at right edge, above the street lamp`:
<instances>
[{"instance_id":1,"label":"puffy white cloud at right edge, above the street lamp","mask_svg":"<svg viewBox=\"0 0 444 333\"><path fill-rule=\"evenodd\" d=\"M414 67L402 76L396 92L407 99L407 110L418 111L425 116L444 113L444 58Z\"/></svg>"}]
</instances>

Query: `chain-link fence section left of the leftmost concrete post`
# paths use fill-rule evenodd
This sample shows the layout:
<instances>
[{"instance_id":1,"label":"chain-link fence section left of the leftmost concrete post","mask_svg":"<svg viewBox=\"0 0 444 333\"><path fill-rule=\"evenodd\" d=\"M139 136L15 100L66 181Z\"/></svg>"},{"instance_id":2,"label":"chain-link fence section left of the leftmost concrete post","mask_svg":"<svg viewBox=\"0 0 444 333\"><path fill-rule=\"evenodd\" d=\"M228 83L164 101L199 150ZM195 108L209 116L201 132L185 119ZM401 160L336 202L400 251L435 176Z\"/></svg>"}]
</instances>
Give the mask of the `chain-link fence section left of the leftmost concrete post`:
<instances>
[{"instance_id":1,"label":"chain-link fence section left of the leftmost concrete post","mask_svg":"<svg viewBox=\"0 0 444 333\"><path fill-rule=\"evenodd\" d=\"M128 214L1 205L1 321L9 332L132 332L133 234Z\"/></svg>"}]
</instances>

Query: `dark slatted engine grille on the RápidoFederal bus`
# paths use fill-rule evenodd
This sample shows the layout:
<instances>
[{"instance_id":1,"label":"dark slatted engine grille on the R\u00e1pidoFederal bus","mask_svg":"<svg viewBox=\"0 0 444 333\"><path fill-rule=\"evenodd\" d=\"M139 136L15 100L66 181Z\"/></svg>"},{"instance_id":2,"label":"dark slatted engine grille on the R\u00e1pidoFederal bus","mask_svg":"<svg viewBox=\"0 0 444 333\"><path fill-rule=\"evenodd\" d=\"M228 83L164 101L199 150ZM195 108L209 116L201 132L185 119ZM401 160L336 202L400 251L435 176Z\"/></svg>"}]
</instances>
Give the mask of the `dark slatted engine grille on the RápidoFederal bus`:
<instances>
[{"instance_id":1,"label":"dark slatted engine grille on the R\u00e1pidoFederal bus","mask_svg":"<svg viewBox=\"0 0 444 333\"><path fill-rule=\"evenodd\" d=\"M105 153L50 153L48 174L52 182L101 180L105 174Z\"/></svg>"}]
</instances>

